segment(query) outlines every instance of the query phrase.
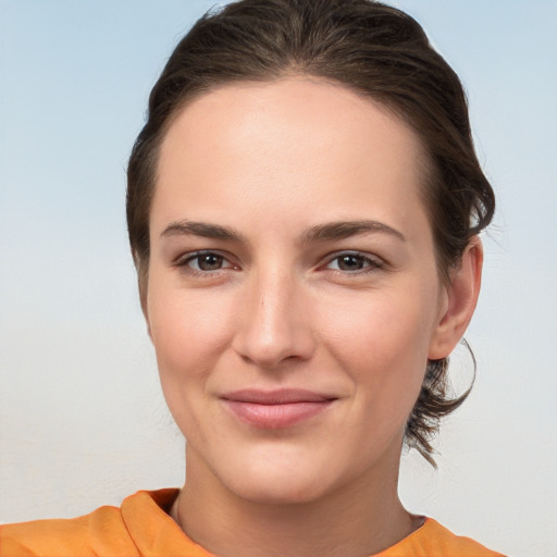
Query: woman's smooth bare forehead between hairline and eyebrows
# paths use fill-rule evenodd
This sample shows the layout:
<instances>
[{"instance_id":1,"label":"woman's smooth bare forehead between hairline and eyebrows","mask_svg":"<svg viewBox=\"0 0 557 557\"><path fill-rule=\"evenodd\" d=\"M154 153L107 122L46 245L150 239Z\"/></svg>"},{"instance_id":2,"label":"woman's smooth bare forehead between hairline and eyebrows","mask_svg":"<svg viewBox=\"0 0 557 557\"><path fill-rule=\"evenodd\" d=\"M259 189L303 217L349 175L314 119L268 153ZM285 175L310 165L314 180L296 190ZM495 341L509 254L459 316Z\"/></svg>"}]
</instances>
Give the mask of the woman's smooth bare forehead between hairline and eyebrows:
<instances>
[{"instance_id":1,"label":"woman's smooth bare forehead between hairline and eyebrows","mask_svg":"<svg viewBox=\"0 0 557 557\"><path fill-rule=\"evenodd\" d=\"M401 119L347 87L301 77L227 85L174 117L153 210L168 221L187 216L171 214L178 199L223 212L243 199L349 212L386 198L404 213L405 199L421 202L424 159Z\"/></svg>"}]
</instances>

